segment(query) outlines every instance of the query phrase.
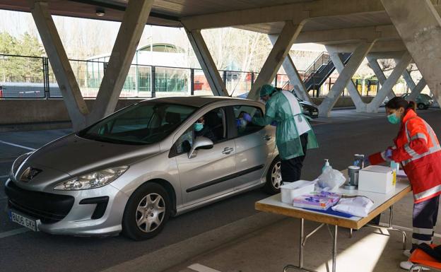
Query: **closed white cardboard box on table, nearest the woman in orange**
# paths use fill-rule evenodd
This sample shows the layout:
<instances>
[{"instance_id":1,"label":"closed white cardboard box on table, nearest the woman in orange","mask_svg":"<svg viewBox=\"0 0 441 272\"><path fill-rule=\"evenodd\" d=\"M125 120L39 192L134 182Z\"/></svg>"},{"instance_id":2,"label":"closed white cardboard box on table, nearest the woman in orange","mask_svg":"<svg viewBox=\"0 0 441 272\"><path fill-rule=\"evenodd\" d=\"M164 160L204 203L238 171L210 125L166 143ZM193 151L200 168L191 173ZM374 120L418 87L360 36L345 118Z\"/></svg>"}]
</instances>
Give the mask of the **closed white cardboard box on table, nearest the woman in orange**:
<instances>
[{"instance_id":1,"label":"closed white cardboard box on table, nearest the woman in orange","mask_svg":"<svg viewBox=\"0 0 441 272\"><path fill-rule=\"evenodd\" d=\"M395 188L392 168L371 165L360 170L358 174L358 190L387 194Z\"/></svg>"}]
</instances>

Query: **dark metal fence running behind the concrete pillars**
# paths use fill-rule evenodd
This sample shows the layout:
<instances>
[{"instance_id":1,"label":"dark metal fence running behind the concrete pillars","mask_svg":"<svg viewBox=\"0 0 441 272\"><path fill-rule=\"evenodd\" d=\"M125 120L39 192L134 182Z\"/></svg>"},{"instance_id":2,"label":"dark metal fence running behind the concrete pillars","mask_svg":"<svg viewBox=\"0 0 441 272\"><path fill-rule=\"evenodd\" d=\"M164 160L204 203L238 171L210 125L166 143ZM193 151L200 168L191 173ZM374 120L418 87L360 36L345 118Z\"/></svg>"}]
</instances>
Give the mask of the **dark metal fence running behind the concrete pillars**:
<instances>
[{"instance_id":1,"label":"dark metal fence running behind the concrete pillars","mask_svg":"<svg viewBox=\"0 0 441 272\"><path fill-rule=\"evenodd\" d=\"M104 61L69 60L81 94L96 97L107 68ZM259 73L219 71L230 95L248 93ZM288 76L278 74L274 85L283 86ZM201 69L133 64L120 97L213 95ZM47 57L0 54L1 98L61 98L61 90Z\"/></svg>"}]
</instances>

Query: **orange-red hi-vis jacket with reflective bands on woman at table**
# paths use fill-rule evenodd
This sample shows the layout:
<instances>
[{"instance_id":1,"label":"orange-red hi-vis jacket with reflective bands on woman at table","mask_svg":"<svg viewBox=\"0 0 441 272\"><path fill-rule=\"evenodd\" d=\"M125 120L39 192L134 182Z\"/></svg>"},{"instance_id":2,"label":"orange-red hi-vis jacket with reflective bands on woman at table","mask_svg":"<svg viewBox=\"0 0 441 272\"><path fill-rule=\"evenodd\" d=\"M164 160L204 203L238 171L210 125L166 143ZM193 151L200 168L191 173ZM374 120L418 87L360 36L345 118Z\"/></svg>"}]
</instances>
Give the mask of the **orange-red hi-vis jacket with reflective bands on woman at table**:
<instances>
[{"instance_id":1,"label":"orange-red hi-vis jacket with reflective bands on woman at table","mask_svg":"<svg viewBox=\"0 0 441 272\"><path fill-rule=\"evenodd\" d=\"M384 151L370 155L370 163L400 162L411 182L415 203L441 194L441 146L429 124L407 110L394 143L390 159Z\"/></svg>"}]
</instances>

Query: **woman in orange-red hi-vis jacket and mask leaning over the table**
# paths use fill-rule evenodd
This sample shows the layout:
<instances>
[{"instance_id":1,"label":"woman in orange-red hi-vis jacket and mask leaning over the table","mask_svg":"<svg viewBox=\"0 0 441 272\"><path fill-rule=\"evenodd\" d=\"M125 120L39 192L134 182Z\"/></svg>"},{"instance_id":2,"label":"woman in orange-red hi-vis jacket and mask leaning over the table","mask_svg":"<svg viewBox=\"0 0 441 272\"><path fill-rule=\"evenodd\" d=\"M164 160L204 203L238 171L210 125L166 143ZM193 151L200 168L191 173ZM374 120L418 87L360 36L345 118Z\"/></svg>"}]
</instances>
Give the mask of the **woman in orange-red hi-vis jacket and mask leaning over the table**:
<instances>
[{"instance_id":1,"label":"woman in orange-red hi-vis jacket and mask leaning over the table","mask_svg":"<svg viewBox=\"0 0 441 272\"><path fill-rule=\"evenodd\" d=\"M394 97L386 104L387 119L400 124L394 146L384 152L370 155L370 164L399 162L411 182L413 190L412 249L405 250L410 256L418 244L433 242L441 194L441 147L430 125L415 112L415 102ZM410 261L402 261L401 268L409 269Z\"/></svg>"}]
</instances>

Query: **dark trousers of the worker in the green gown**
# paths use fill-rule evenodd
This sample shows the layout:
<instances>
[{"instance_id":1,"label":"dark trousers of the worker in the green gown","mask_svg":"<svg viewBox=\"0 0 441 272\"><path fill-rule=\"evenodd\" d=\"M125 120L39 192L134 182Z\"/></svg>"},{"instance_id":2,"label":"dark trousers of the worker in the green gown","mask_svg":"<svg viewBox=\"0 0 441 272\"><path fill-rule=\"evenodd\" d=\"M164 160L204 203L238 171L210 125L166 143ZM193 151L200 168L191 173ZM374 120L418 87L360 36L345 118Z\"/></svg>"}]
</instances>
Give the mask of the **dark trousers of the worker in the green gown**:
<instances>
[{"instance_id":1,"label":"dark trousers of the worker in the green gown","mask_svg":"<svg viewBox=\"0 0 441 272\"><path fill-rule=\"evenodd\" d=\"M300 179L300 175L302 175L303 160L305 160L307 150L307 137L307 133L300 135L300 142L302 143L304 155L289 160L282 160L282 182L297 182Z\"/></svg>"}]
</instances>

